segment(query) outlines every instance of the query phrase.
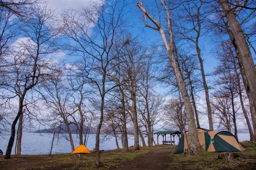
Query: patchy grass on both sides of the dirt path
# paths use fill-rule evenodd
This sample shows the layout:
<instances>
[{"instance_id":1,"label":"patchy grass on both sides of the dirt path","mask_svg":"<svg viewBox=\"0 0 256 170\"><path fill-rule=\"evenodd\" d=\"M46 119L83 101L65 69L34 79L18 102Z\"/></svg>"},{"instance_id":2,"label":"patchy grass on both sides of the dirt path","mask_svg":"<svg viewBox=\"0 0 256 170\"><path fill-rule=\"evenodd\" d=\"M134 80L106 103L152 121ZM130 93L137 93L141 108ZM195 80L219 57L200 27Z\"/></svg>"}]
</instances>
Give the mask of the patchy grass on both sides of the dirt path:
<instances>
[{"instance_id":1,"label":"patchy grass on both sides of the dirt path","mask_svg":"<svg viewBox=\"0 0 256 170\"><path fill-rule=\"evenodd\" d=\"M243 143L241 143L243 145ZM171 154L168 152L168 165L166 169L179 170L250 170L256 167L256 147L249 142L250 145L243 147L246 149L245 154L250 159L235 158L232 162L218 159L218 153L206 152L201 150L200 155L188 154ZM0 156L0 169L67 169L67 170L107 170L121 164L125 164L129 160L134 160L154 149L169 149L173 146L158 145L155 147L140 147L140 150L130 151L124 149L105 150L101 153L102 166L95 165L96 154L82 154L80 158L72 154L52 154L48 155L12 155L12 159L5 160ZM10 166L11 165L11 166Z\"/></svg>"}]
</instances>

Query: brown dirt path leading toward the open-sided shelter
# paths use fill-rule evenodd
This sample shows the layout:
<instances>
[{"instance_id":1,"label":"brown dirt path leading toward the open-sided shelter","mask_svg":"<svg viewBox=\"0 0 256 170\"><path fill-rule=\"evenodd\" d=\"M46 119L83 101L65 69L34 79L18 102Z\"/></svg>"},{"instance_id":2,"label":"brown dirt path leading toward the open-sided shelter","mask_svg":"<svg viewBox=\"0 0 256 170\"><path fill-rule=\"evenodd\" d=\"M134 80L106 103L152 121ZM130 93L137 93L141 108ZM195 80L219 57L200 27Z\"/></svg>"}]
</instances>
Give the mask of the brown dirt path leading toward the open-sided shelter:
<instances>
[{"instance_id":1,"label":"brown dirt path leading toward the open-sided shelter","mask_svg":"<svg viewBox=\"0 0 256 170\"><path fill-rule=\"evenodd\" d=\"M165 170L173 149L152 150L144 156L128 161L111 170Z\"/></svg>"}]
</instances>

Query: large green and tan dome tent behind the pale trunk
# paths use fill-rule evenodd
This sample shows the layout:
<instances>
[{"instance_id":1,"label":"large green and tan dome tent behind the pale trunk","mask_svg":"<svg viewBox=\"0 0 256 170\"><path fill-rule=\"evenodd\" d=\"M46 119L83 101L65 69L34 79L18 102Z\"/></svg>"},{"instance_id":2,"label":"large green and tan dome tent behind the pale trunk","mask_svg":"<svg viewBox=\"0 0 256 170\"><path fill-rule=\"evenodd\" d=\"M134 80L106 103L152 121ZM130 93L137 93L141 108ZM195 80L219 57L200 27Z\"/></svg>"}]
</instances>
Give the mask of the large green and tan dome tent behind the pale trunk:
<instances>
[{"instance_id":1,"label":"large green and tan dome tent behind the pale trunk","mask_svg":"<svg viewBox=\"0 0 256 170\"><path fill-rule=\"evenodd\" d=\"M188 149L189 131L180 137L176 154ZM240 145L234 135L228 131L209 131L197 128L198 139L201 147L208 152L239 152L245 149Z\"/></svg>"}]
</instances>

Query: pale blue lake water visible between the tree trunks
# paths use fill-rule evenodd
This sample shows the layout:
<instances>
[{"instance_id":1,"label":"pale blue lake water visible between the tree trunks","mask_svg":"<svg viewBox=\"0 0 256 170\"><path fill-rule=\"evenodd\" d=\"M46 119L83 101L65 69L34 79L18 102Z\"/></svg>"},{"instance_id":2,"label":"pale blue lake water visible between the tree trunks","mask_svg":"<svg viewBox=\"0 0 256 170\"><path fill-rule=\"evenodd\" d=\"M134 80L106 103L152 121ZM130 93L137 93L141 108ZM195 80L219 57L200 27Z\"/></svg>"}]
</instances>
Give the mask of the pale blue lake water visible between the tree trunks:
<instances>
[{"instance_id":1,"label":"pale blue lake water visible between the tree trunks","mask_svg":"<svg viewBox=\"0 0 256 170\"><path fill-rule=\"evenodd\" d=\"M74 147L78 147L79 140L76 137L76 134L73 134L73 140L74 140ZM4 152L6 152L6 148L8 145L8 141L10 136L6 136L6 139L0 139L0 149ZM22 144L21 144L21 153L22 154L49 154L51 145L52 145L52 134L46 134L46 133L22 133ZM101 139L102 139L101 135ZM91 134L89 135L88 142L86 147L89 150L92 150L95 147L95 141L96 137L95 135ZM157 135L154 135L154 140L157 143ZM166 140L170 140L170 135L166 135ZM250 140L249 133L238 133L238 140L239 141L246 141ZM15 140L16 141L16 140ZM159 144L162 144L162 136L160 135L158 138ZM145 142L147 143L147 138L145 138ZM119 147L122 147L121 140L118 141ZM178 144L178 136L175 136L175 144ZM128 145L134 145L134 138L130 137L128 139ZM140 142L140 145L142 143ZM15 147L15 143L14 143ZM14 147L12 149L12 154L14 154ZM113 138L108 139L107 141L101 141L100 142L100 150L112 150L117 149L116 147L116 141ZM71 153L71 147L70 142L66 139L62 138L60 140L54 139L54 144L52 148L52 154L55 153Z\"/></svg>"}]
</instances>

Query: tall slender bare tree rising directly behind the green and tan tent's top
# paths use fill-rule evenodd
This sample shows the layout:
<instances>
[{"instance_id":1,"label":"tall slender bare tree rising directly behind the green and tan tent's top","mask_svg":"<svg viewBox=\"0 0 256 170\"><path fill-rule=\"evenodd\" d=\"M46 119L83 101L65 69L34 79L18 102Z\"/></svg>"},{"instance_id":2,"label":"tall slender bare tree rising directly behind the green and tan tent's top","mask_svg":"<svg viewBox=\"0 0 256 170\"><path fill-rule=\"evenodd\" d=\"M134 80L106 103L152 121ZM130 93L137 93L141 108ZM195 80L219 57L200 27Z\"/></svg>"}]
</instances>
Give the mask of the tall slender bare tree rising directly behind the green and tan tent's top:
<instances>
[{"instance_id":1,"label":"tall slender bare tree rising directly behind the green and tan tent's top","mask_svg":"<svg viewBox=\"0 0 256 170\"><path fill-rule=\"evenodd\" d=\"M196 49L196 55L200 63L200 71L202 75L202 83L204 85L204 92L206 98L206 106L208 111L209 129L213 131L212 123L212 110L210 107L209 88L206 83L206 75L204 72L203 59L200 49L200 37L204 34L204 18L207 16L206 5L201 0L191 0L186 2L179 2L180 8L177 8L177 20L176 26L178 27L178 39L184 39L192 43L192 46ZM194 104L193 104L194 105ZM199 126L200 127L200 126Z\"/></svg>"}]
</instances>

